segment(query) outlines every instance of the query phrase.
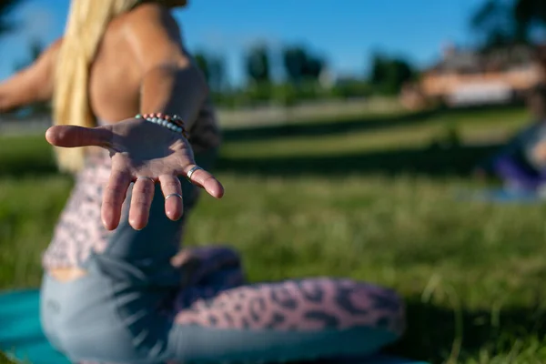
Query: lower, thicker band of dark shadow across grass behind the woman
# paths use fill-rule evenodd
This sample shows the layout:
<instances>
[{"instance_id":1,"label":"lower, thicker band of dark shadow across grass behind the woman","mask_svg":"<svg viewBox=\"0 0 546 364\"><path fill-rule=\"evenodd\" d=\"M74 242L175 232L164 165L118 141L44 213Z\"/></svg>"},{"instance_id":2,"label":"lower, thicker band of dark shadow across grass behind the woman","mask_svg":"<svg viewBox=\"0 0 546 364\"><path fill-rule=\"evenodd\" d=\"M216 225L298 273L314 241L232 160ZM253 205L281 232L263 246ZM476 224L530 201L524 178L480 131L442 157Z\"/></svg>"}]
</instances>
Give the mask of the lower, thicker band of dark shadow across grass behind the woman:
<instances>
[{"instance_id":1,"label":"lower, thicker band of dark shadow across grass behind the woman","mask_svg":"<svg viewBox=\"0 0 546 364\"><path fill-rule=\"evenodd\" d=\"M468 176L471 169L500 146L405 148L339 156L228 158L217 170L259 176L336 176L339 174L413 174Z\"/></svg>"}]
</instances>

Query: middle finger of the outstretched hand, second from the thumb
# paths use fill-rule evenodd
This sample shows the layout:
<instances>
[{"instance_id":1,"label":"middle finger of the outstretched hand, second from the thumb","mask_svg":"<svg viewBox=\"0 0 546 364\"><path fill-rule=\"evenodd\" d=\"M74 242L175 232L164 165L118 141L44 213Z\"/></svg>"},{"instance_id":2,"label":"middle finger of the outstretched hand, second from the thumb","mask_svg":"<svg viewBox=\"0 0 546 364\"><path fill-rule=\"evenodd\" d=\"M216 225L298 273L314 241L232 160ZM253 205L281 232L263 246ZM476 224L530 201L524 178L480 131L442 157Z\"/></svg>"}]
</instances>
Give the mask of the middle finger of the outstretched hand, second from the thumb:
<instances>
[{"instance_id":1,"label":"middle finger of the outstretched hand, second from the thumb","mask_svg":"<svg viewBox=\"0 0 546 364\"><path fill-rule=\"evenodd\" d=\"M136 178L129 210L129 224L136 230L142 230L147 226L150 207L152 207L152 200L154 199L154 189L154 181L151 178Z\"/></svg>"}]
</instances>

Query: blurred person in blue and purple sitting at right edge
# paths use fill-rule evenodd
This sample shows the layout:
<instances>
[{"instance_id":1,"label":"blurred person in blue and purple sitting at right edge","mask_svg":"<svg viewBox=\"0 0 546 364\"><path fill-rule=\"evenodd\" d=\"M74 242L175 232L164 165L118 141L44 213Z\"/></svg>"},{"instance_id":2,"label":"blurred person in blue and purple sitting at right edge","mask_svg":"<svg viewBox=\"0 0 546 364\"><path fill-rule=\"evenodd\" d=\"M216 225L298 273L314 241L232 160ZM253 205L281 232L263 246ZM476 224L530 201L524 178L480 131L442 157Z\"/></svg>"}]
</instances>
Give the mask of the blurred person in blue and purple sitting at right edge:
<instances>
[{"instance_id":1,"label":"blurred person in blue and purple sitting at right edge","mask_svg":"<svg viewBox=\"0 0 546 364\"><path fill-rule=\"evenodd\" d=\"M505 187L539 191L546 183L546 85L534 86L527 98L532 122L475 170L477 177L498 177Z\"/></svg>"}]
</instances>

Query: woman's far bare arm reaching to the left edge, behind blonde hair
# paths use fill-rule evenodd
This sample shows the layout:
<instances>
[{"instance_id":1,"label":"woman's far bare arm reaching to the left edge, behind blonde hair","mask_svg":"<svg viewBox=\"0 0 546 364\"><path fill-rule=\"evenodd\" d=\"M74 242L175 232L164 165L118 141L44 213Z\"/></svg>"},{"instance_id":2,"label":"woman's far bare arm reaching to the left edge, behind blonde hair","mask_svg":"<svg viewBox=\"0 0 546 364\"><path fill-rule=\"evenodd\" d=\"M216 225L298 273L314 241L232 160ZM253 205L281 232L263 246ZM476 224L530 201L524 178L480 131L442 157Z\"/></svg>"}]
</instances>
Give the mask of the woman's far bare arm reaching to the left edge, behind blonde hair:
<instances>
[{"instance_id":1,"label":"woman's far bare arm reaching to the left edge, behind blonde hair","mask_svg":"<svg viewBox=\"0 0 546 364\"><path fill-rule=\"evenodd\" d=\"M35 63L0 83L0 113L46 101L53 96L55 58L61 40L49 46Z\"/></svg>"}]
</instances>

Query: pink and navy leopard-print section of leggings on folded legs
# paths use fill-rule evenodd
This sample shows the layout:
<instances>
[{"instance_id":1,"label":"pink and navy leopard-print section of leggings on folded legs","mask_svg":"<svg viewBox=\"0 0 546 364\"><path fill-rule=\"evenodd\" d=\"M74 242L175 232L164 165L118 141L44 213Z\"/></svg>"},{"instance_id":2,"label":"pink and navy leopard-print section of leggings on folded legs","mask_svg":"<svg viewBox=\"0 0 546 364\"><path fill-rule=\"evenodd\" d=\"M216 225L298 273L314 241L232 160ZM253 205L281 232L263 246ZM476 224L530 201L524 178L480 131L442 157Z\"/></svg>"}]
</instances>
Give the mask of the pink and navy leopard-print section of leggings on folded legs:
<instances>
[{"instance_id":1,"label":"pink and navy leopard-print section of leggings on folded legs","mask_svg":"<svg viewBox=\"0 0 546 364\"><path fill-rule=\"evenodd\" d=\"M202 268L174 300L180 325L217 329L322 330L367 326L403 331L403 306L391 290L351 279L308 278L244 285L237 252L197 248ZM222 267L225 262L225 267Z\"/></svg>"}]
</instances>

